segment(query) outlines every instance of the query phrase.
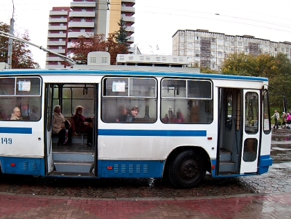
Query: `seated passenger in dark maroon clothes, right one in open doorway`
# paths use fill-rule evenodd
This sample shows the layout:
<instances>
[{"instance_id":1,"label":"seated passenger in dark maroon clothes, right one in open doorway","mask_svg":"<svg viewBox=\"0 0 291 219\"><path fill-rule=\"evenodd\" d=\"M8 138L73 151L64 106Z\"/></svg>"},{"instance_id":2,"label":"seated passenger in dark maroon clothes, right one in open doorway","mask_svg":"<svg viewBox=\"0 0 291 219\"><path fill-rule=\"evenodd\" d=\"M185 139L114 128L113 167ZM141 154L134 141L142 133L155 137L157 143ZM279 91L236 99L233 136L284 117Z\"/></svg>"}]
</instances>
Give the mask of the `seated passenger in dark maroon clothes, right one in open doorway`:
<instances>
[{"instance_id":1,"label":"seated passenger in dark maroon clothes, right one in open doorway","mask_svg":"<svg viewBox=\"0 0 291 219\"><path fill-rule=\"evenodd\" d=\"M85 118L82 116L83 107L76 107L76 113L73 115L73 123L75 123L75 132L87 133L87 146L93 146L93 128L90 127L89 122L93 121L93 117Z\"/></svg>"}]
</instances>

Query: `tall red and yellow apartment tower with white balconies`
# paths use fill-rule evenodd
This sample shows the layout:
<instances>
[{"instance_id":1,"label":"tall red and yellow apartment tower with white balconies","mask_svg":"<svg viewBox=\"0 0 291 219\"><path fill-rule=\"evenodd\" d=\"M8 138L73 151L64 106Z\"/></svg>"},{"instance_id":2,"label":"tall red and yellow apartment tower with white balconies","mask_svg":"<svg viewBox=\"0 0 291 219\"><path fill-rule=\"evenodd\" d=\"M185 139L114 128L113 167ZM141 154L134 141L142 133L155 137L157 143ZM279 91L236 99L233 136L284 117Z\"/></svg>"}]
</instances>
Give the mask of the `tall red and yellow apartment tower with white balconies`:
<instances>
[{"instance_id":1,"label":"tall red and yellow apartment tower with white balconies","mask_svg":"<svg viewBox=\"0 0 291 219\"><path fill-rule=\"evenodd\" d=\"M118 22L125 21L129 45L134 42L135 0L73 0L70 7L53 7L48 21L47 48L69 56L71 46L78 37L114 33ZM61 58L53 54L46 57L46 69L64 68Z\"/></svg>"}]
</instances>

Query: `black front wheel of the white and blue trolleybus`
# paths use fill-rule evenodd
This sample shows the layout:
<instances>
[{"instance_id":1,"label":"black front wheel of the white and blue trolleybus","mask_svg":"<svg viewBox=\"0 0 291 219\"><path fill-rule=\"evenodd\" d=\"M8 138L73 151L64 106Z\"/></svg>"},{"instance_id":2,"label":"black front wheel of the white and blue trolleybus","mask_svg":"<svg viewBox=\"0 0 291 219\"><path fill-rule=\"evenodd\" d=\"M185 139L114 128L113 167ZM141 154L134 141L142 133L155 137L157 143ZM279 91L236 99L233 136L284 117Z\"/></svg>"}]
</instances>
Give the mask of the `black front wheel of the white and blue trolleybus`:
<instances>
[{"instance_id":1,"label":"black front wheel of the white and blue trolleybus","mask_svg":"<svg viewBox=\"0 0 291 219\"><path fill-rule=\"evenodd\" d=\"M205 175L204 159L195 150L184 150L173 159L169 167L171 184L179 188L192 188L199 184Z\"/></svg>"}]
</instances>

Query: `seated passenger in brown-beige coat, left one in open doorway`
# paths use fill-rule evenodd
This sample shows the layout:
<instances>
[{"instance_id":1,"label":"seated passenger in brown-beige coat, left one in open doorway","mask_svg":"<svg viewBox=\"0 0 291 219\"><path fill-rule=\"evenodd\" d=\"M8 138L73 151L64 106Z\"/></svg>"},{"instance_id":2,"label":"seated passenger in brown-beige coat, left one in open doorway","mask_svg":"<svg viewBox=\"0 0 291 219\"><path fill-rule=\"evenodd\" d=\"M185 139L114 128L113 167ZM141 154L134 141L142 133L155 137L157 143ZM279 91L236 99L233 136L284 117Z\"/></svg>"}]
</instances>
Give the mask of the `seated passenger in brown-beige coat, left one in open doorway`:
<instances>
[{"instance_id":1,"label":"seated passenger in brown-beige coat, left one in open doorway","mask_svg":"<svg viewBox=\"0 0 291 219\"><path fill-rule=\"evenodd\" d=\"M66 134L67 134L66 125L64 125L65 122L69 123L69 127L71 127L71 123L62 115L60 105L55 105L55 107L53 107L53 132L55 132L59 136L58 146L64 146L64 141L66 139ZM71 143L71 130L70 129L68 132L67 143Z\"/></svg>"}]
</instances>

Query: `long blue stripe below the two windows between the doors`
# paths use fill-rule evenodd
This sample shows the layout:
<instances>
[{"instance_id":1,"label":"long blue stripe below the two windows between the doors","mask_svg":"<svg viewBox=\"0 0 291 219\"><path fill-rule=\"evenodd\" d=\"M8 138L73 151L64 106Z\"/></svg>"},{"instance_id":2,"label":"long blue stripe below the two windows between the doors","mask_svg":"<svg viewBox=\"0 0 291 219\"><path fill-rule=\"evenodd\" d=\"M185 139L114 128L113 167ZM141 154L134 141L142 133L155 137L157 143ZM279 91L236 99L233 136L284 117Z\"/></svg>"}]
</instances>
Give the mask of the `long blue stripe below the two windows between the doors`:
<instances>
[{"instance_id":1,"label":"long blue stripe below the two windows between the doors","mask_svg":"<svg viewBox=\"0 0 291 219\"><path fill-rule=\"evenodd\" d=\"M98 135L206 137L206 130L98 130Z\"/></svg>"}]
</instances>

